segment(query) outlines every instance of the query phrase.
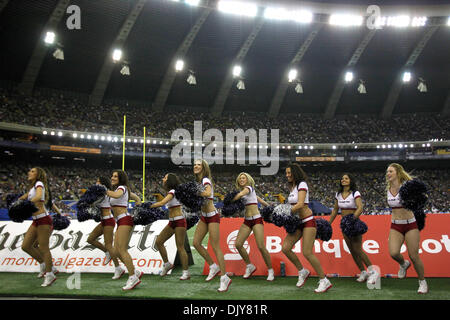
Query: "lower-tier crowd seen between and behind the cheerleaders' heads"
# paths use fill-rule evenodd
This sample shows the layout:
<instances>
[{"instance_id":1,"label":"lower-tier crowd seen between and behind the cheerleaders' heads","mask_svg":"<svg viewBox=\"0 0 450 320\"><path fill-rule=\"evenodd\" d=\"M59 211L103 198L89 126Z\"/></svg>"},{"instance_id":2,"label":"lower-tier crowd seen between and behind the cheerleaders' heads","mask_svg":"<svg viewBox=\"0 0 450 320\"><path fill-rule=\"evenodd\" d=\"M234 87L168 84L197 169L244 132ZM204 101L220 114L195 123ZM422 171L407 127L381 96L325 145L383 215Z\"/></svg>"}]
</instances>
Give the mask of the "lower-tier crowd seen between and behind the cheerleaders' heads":
<instances>
[{"instance_id":1,"label":"lower-tier crowd seen between and behind the cheerleaders' heads","mask_svg":"<svg viewBox=\"0 0 450 320\"><path fill-rule=\"evenodd\" d=\"M8 193L23 193L27 190L26 173L29 167L17 163L1 163L0 169L0 207L6 207L5 197ZM94 184L98 176L109 177L111 170L98 168L82 168L67 166L47 166L44 169L49 173L49 183L53 199L65 207L61 200L76 201L84 190ZM226 195L235 189L234 182L240 171L214 171L215 192ZM191 168L183 167L170 170L182 178L182 181L193 180ZM133 191L142 198L142 172L127 170ZM152 169L146 173L146 201L154 201L154 194L165 195L161 180L167 173L165 169ZM283 170L276 176L260 176L250 173L256 183L259 195L269 202L278 203L285 199L289 192ZM308 173L310 178L310 199L317 200L326 207L333 207L334 195L343 172L313 172ZM358 191L361 192L364 203L364 214L390 213L386 203L386 184L383 171L355 172L357 176ZM420 178L429 186L429 203L427 212L450 212L448 197L448 170L415 170L412 175ZM281 195L279 197L278 195ZM216 198L216 201L220 201Z\"/></svg>"}]
</instances>

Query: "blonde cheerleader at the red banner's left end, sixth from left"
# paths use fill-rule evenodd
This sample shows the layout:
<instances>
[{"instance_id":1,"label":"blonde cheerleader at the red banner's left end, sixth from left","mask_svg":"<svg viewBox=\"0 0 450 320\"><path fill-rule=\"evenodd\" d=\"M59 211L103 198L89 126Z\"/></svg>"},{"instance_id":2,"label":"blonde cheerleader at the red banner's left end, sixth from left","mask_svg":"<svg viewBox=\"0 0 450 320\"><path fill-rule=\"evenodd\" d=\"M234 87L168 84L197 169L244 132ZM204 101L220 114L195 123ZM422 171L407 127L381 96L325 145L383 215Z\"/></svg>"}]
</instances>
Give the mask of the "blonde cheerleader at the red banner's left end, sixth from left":
<instances>
[{"instance_id":1,"label":"blonde cheerleader at the red banner's left end, sixth from left","mask_svg":"<svg viewBox=\"0 0 450 320\"><path fill-rule=\"evenodd\" d=\"M261 252L268 269L267 281L273 281L275 277L272 268L272 261L270 260L270 254L267 251L264 241L263 219L258 210L258 202L263 206L268 206L268 204L256 195L255 181L248 173L240 173L236 178L235 186L240 189L241 192L234 197L233 201L237 201L242 198L245 204L244 223L241 225L236 238L236 249L239 251L239 254L247 265L243 278L250 278L250 276L256 271L256 266L250 262L247 250L244 248L245 240L247 240L250 233L253 231L256 245L258 246L259 252Z\"/></svg>"}]
</instances>

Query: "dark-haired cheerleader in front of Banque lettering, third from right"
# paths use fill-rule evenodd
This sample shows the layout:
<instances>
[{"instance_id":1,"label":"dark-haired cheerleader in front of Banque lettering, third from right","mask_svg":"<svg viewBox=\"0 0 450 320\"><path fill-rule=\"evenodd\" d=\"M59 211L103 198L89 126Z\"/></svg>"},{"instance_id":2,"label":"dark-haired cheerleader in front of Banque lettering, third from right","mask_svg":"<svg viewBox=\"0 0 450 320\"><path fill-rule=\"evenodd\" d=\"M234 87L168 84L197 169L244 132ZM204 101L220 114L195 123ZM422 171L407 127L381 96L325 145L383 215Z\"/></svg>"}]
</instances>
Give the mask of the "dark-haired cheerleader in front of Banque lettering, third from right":
<instances>
[{"instance_id":1,"label":"dark-haired cheerleader in front of Banque lettering, third from right","mask_svg":"<svg viewBox=\"0 0 450 320\"><path fill-rule=\"evenodd\" d=\"M289 204L292 205L292 213L298 214L299 218L301 219L301 224L294 233L288 233L286 235L286 238L283 241L282 251L299 270L297 287L302 287L305 284L306 279L308 279L310 271L303 267L297 255L292 252L292 247L303 237L303 256L309 261L314 270L316 270L320 278L319 286L314 291L317 293L326 292L333 285L326 278L319 259L317 259L317 257L313 253L313 246L316 239L317 229L316 220L312 215L311 209L309 209L308 207L308 177L306 176L302 168L300 168L298 164L294 163L290 164L286 168L286 178L288 180L290 188L288 201Z\"/></svg>"}]
</instances>

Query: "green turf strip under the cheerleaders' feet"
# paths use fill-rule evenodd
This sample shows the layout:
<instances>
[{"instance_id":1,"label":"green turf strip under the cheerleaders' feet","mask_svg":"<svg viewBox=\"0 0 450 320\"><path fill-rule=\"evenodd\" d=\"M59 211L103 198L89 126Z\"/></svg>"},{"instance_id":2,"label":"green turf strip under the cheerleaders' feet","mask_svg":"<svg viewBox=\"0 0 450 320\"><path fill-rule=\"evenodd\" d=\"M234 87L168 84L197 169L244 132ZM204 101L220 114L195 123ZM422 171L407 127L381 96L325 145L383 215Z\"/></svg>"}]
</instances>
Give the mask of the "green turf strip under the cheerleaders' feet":
<instances>
[{"instance_id":1,"label":"green turf strip under the cheerleaders' feet","mask_svg":"<svg viewBox=\"0 0 450 320\"><path fill-rule=\"evenodd\" d=\"M192 243L193 230L189 230ZM207 243L205 239L204 243ZM161 278L158 275L144 275L142 283L134 290L123 292L127 280L111 280L111 274L81 274L81 288L69 290L67 279L70 274L60 273L50 287L42 288L42 279L36 273L0 273L0 296L63 297L63 298L131 298L131 299L195 299L195 300L450 300L450 278L428 278L429 293L417 294L418 281L412 279L381 279L381 290L369 290L354 278L330 278L333 287L324 294L314 293L318 278L310 277L303 288L298 289L296 277L276 277L270 283L265 277L244 280L232 277L230 290L217 292L219 278L205 282L204 261L192 250L195 264L190 266L191 279L180 281L181 267Z\"/></svg>"}]
</instances>

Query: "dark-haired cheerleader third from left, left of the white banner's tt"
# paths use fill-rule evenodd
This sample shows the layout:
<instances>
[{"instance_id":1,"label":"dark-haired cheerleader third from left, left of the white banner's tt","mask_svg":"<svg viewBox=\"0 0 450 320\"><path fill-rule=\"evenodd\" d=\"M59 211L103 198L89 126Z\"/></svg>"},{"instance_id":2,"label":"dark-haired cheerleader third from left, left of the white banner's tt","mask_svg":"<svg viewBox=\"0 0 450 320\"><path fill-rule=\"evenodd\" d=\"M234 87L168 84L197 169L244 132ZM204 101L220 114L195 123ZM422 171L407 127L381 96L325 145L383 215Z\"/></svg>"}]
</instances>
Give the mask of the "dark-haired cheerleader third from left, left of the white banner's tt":
<instances>
[{"instance_id":1,"label":"dark-haired cheerleader third from left, left of the white banner's tt","mask_svg":"<svg viewBox=\"0 0 450 320\"><path fill-rule=\"evenodd\" d=\"M141 199L131 192L128 176L122 170L113 172L111 186L115 191L107 190L106 195L110 198L111 209L117 222L117 230L114 234L114 252L128 270L129 278L122 289L132 290L141 283L143 272L135 270L133 260L128 253L128 243L134 228L133 218L128 213L128 200L132 198L137 205L140 205Z\"/></svg>"}]
</instances>

